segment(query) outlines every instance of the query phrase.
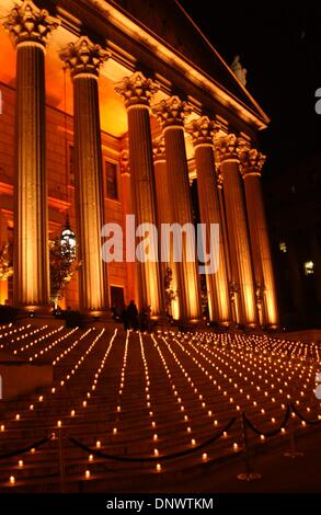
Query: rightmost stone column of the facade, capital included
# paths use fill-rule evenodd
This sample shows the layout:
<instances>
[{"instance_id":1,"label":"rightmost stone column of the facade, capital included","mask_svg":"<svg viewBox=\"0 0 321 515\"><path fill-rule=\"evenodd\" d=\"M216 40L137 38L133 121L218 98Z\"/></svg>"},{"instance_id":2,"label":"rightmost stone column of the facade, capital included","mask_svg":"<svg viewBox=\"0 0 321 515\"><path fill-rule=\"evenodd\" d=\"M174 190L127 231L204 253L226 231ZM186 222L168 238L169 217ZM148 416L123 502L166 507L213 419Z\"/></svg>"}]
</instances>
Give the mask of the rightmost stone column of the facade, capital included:
<instances>
[{"instance_id":1,"label":"rightmost stone column of the facade, capital included","mask_svg":"<svg viewBox=\"0 0 321 515\"><path fill-rule=\"evenodd\" d=\"M244 180L259 313L264 325L276 328L276 290L261 187L261 169L264 161L265 156L256 149L247 149L242 154L241 172Z\"/></svg>"}]
</instances>

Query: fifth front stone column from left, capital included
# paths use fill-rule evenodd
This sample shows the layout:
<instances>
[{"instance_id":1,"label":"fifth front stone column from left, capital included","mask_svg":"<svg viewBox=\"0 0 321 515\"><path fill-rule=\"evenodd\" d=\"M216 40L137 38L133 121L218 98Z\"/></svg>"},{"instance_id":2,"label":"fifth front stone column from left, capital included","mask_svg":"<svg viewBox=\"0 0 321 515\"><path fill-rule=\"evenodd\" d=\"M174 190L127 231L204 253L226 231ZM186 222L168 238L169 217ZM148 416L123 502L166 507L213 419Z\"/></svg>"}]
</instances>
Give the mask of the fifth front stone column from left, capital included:
<instances>
[{"instance_id":1,"label":"fifth front stone column from left, capital included","mask_svg":"<svg viewBox=\"0 0 321 515\"><path fill-rule=\"evenodd\" d=\"M213 253L211 260L214 261L214 256L217 252L218 258L217 271L206 274L209 317L211 321L216 321L221 325L227 325L230 323L231 317L229 285L223 250L223 230L214 159L213 137L215 124L207 116L202 116L197 121L192 122L187 127L187 131L192 135L195 148L200 222L206 227L205 254L206 252ZM216 224L219 229L218 250L215 247L210 247L210 244L215 244L210 228L214 224Z\"/></svg>"}]
</instances>

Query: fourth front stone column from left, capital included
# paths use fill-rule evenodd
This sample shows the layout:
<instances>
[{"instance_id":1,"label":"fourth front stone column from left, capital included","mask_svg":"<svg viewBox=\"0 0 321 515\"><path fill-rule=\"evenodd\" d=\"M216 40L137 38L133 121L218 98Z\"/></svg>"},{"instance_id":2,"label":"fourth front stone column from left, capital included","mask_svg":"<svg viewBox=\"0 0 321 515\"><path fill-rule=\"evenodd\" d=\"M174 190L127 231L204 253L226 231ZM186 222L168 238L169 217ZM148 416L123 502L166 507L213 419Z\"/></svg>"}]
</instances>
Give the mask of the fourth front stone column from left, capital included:
<instances>
[{"instance_id":1,"label":"fourth front stone column from left, capital included","mask_svg":"<svg viewBox=\"0 0 321 515\"><path fill-rule=\"evenodd\" d=\"M171 96L154 106L153 112L159 117L165 141L165 159L169 181L168 202L172 206L172 222L180 229L185 224L193 226L192 203L188 181L188 168L184 138L184 118L190 112L185 102L177 96ZM188 232L182 234L182 260L175 264L175 281L180 318L196 319L200 317L199 286L197 277L197 258L188 261L188 253L195 251L193 238ZM191 254L192 255L192 254Z\"/></svg>"}]
</instances>

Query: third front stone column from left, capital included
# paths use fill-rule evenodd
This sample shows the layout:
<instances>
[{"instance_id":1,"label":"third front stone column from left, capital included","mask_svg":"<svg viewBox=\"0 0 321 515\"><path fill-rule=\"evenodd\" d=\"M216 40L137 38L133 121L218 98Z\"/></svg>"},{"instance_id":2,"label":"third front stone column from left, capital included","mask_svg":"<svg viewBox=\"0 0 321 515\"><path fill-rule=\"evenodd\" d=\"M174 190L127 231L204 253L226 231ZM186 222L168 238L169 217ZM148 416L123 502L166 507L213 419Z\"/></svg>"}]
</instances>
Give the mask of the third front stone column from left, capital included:
<instances>
[{"instance_id":1,"label":"third front stone column from left, capital included","mask_svg":"<svg viewBox=\"0 0 321 515\"><path fill-rule=\"evenodd\" d=\"M141 72L125 77L116 85L116 92L125 100L128 116L129 167L136 227L141 224L157 227L152 142L150 131L150 101L158 87ZM152 238L149 232L149 237ZM150 240L151 241L151 240ZM158 241L154 241L158 244ZM151 250L151 245L149 245ZM161 311L161 291L158 249L149 258L136 260L136 297L139 309L150 306L152 313Z\"/></svg>"}]
</instances>

